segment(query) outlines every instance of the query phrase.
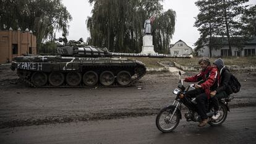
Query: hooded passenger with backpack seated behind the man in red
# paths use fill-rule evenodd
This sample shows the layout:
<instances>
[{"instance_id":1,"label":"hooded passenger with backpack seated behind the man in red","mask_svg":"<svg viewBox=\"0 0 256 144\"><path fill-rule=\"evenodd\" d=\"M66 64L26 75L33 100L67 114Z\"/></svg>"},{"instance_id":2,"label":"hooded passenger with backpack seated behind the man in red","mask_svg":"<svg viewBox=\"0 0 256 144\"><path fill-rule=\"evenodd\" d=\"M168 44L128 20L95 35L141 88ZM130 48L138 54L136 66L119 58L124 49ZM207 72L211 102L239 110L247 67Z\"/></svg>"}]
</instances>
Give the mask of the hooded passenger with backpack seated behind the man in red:
<instances>
[{"instance_id":1,"label":"hooded passenger with backpack seated behind the man in red","mask_svg":"<svg viewBox=\"0 0 256 144\"><path fill-rule=\"evenodd\" d=\"M218 88L214 91L211 91L210 95L213 102L213 108L215 110L215 114L211 117L212 119L218 119L220 117L219 111L219 103L218 99L226 98L228 95L233 93L231 87L229 86L228 82L231 77L231 74L229 73L229 70L224 66L224 62L221 58L216 59L213 64L218 69Z\"/></svg>"}]
</instances>

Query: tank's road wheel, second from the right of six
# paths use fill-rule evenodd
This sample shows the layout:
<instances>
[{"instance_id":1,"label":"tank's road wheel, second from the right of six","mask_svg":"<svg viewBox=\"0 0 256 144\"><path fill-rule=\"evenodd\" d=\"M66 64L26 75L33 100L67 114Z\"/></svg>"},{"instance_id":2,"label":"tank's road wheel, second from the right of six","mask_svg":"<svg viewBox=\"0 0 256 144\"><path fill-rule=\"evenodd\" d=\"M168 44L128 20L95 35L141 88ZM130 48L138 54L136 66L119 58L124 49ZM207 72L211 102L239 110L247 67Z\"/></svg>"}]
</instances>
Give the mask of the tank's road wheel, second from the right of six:
<instances>
[{"instance_id":1,"label":"tank's road wheel, second from the right of six","mask_svg":"<svg viewBox=\"0 0 256 144\"><path fill-rule=\"evenodd\" d=\"M114 83L114 74L111 71L104 71L100 74L100 83L105 86L112 85Z\"/></svg>"}]
</instances>

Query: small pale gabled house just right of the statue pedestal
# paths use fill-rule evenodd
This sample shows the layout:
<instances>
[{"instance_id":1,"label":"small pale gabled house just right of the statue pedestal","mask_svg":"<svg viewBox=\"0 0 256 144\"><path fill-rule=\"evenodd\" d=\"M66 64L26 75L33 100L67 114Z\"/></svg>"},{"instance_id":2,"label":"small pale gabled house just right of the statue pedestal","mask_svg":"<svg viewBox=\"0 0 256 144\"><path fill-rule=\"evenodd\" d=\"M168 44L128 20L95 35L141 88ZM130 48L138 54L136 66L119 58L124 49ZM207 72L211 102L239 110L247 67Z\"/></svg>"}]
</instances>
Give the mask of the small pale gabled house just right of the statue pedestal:
<instances>
[{"instance_id":1,"label":"small pale gabled house just right of the statue pedestal","mask_svg":"<svg viewBox=\"0 0 256 144\"><path fill-rule=\"evenodd\" d=\"M176 43L171 46L169 49L169 52L172 56L178 56L178 55L190 55L193 52L193 49L190 48L190 46L187 46L187 44L179 40Z\"/></svg>"}]
</instances>

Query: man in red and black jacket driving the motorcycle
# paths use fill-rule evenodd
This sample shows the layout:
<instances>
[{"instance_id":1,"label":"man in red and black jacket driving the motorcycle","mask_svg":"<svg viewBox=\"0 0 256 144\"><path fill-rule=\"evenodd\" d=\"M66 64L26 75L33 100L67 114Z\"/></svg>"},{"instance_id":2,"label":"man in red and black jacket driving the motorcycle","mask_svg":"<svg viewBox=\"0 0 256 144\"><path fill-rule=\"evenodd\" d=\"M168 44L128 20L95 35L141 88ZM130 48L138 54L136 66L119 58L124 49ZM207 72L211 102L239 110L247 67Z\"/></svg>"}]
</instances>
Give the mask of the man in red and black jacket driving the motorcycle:
<instances>
[{"instance_id":1,"label":"man in red and black jacket driving the motorcycle","mask_svg":"<svg viewBox=\"0 0 256 144\"><path fill-rule=\"evenodd\" d=\"M208 99L210 98L210 91L214 91L218 87L218 70L216 67L211 66L210 59L208 59L208 57L202 57L199 59L198 64L200 64L202 71L194 77L185 78L184 81L202 82L195 85L195 90L187 91L186 94L181 95L181 98L183 98L183 96L196 98L198 114L202 118L202 122L198 124L198 127L203 127L210 120L207 116L205 104L207 104Z\"/></svg>"}]
</instances>

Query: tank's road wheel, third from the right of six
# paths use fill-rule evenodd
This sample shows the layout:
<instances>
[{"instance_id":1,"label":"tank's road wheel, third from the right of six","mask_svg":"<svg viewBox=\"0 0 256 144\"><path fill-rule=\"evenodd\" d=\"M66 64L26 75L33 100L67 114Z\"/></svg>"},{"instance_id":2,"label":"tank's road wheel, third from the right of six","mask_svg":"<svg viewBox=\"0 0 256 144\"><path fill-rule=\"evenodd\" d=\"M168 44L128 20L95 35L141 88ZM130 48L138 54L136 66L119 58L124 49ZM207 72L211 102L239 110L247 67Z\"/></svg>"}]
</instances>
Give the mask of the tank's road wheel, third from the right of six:
<instances>
[{"instance_id":1,"label":"tank's road wheel, third from the right of six","mask_svg":"<svg viewBox=\"0 0 256 144\"><path fill-rule=\"evenodd\" d=\"M96 83L98 83L98 75L96 72L91 70L83 74L83 83L88 86L96 85Z\"/></svg>"}]
</instances>

